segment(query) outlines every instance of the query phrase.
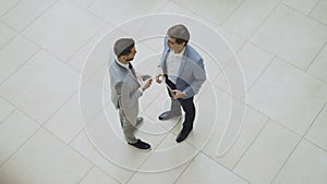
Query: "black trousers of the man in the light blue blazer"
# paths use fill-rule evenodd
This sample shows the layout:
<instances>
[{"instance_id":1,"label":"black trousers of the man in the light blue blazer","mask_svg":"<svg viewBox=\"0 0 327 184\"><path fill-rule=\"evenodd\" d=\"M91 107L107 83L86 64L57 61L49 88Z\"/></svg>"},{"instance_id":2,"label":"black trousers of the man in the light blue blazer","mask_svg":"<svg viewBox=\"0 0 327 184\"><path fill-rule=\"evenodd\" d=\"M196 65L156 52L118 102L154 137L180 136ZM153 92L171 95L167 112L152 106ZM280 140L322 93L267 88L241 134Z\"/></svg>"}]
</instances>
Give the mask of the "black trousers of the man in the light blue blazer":
<instances>
[{"instance_id":1,"label":"black trousers of the man in the light blue blazer","mask_svg":"<svg viewBox=\"0 0 327 184\"><path fill-rule=\"evenodd\" d=\"M168 79L168 77L165 78L166 78L166 84L171 89L177 89L175 85L170 79ZM167 90L168 90L168 95L172 98L169 88L167 88ZM193 122L195 119L195 106L193 99L194 99L193 97L187 99L181 99L181 98L178 99L185 112L184 122L183 122L183 130L185 131L191 131L193 128Z\"/></svg>"}]
</instances>

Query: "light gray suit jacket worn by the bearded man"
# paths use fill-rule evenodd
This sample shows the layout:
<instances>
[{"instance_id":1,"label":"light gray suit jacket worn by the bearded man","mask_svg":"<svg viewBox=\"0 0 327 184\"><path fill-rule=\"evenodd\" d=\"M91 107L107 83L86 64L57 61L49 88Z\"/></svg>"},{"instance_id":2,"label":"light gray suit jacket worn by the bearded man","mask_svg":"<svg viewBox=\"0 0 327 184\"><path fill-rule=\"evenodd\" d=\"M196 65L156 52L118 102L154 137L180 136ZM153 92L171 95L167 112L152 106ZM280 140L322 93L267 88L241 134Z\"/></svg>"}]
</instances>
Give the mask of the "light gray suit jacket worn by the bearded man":
<instances>
[{"instance_id":1,"label":"light gray suit jacket worn by the bearded man","mask_svg":"<svg viewBox=\"0 0 327 184\"><path fill-rule=\"evenodd\" d=\"M140 83L134 69L131 72L117 62L112 62L109 69L111 100L116 109L122 110L129 122L134 124L138 114L138 98L142 96Z\"/></svg>"}]
</instances>

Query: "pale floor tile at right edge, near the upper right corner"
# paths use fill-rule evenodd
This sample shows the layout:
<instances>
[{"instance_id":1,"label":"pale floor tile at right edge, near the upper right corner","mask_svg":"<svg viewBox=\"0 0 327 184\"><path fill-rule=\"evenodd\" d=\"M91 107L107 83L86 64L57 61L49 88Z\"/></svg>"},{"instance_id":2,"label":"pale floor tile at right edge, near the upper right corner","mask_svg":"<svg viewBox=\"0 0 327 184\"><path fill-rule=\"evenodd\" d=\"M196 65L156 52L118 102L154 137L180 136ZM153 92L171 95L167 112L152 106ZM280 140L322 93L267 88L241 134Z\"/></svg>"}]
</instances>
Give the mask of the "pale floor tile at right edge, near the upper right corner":
<instances>
[{"instance_id":1,"label":"pale floor tile at right edge, near the upper right corner","mask_svg":"<svg viewBox=\"0 0 327 184\"><path fill-rule=\"evenodd\" d=\"M327 26L286 5L279 5L251 38L257 46L303 70L326 40Z\"/></svg>"}]
</instances>

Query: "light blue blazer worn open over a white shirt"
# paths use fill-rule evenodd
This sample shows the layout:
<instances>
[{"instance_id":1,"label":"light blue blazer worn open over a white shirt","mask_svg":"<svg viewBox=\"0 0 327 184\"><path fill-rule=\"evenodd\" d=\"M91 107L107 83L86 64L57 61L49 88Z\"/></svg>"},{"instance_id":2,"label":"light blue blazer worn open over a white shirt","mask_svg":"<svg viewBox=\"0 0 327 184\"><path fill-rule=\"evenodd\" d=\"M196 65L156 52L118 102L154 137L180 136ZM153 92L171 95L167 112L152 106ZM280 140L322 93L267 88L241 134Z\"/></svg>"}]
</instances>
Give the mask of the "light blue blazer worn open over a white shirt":
<instances>
[{"instance_id":1,"label":"light blue blazer worn open over a white shirt","mask_svg":"<svg viewBox=\"0 0 327 184\"><path fill-rule=\"evenodd\" d=\"M167 37L165 38L165 49L161 56L159 66L161 66L164 74L167 74L167 56L170 51L167 45ZM187 44L185 47L182 63L178 72L175 82L177 89L186 94L182 99L187 99L196 95L206 81L206 71L202 57Z\"/></svg>"}]
</instances>

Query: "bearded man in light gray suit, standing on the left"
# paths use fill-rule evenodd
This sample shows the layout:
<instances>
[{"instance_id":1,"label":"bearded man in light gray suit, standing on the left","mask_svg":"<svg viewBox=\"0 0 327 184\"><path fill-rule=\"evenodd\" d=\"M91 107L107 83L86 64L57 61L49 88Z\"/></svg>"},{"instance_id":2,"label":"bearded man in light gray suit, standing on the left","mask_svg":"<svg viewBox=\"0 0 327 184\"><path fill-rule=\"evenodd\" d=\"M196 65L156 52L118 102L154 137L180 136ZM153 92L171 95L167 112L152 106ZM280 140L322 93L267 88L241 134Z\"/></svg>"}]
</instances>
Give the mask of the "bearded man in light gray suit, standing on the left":
<instances>
[{"instance_id":1,"label":"bearded man in light gray suit, standing on the left","mask_svg":"<svg viewBox=\"0 0 327 184\"><path fill-rule=\"evenodd\" d=\"M138 115L138 98L152 84L152 78L142 85L137 81L135 70L130 61L136 53L135 41L132 38L121 38L113 46L116 60L110 65L111 100L119 110L119 118L125 140L140 149L149 149L150 145L137 139L136 127L143 122Z\"/></svg>"}]
</instances>

